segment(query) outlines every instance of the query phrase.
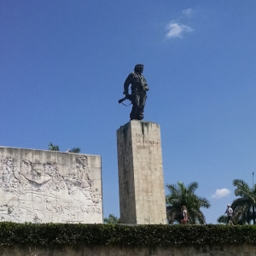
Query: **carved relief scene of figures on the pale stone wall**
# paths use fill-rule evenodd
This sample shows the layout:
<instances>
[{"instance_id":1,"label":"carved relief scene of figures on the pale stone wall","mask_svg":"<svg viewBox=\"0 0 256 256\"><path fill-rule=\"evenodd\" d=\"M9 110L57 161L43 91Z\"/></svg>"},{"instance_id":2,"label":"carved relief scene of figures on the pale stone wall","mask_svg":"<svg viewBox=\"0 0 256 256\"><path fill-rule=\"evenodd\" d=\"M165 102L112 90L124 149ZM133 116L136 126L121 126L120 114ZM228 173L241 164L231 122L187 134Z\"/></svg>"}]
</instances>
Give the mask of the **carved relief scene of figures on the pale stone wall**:
<instances>
[{"instance_id":1,"label":"carved relief scene of figures on the pale stone wall","mask_svg":"<svg viewBox=\"0 0 256 256\"><path fill-rule=\"evenodd\" d=\"M66 175L56 162L40 165L25 159L19 168L11 156L0 160L1 221L79 223L86 214L102 212L86 156L77 157Z\"/></svg>"}]
</instances>

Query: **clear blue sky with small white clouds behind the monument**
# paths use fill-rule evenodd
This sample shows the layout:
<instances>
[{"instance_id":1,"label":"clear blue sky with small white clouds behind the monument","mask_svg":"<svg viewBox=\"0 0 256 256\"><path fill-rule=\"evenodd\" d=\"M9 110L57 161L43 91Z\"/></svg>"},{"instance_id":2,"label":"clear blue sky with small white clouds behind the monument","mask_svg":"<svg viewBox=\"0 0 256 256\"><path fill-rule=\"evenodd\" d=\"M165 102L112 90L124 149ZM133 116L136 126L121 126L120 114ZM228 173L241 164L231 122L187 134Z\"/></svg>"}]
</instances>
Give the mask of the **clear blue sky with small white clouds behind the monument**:
<instances>
[{"instance_id":1,"label":"clear blue sky with small white clouds behind the monument","mask_svg":"<svg viewBox=\"0 0 256 256\"><path fill-rule=\"evenodd\" d=\"M165 183L199 183L216 223L256 170L256 3L0 2L0 145L102 155L104 216L119 216L123 84L144 64ZM166 191L167 192L167 191Z\"/></svg>"}]
</instances>

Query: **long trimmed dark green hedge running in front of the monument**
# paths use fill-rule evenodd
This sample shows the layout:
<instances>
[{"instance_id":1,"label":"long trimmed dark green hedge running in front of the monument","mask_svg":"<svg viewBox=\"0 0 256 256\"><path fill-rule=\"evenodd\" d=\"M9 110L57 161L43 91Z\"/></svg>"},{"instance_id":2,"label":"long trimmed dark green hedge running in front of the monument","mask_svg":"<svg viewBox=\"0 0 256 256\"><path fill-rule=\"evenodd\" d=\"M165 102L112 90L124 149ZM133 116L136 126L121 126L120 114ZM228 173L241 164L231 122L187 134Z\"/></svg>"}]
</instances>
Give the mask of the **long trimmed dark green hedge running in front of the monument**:
<instances>
[{"instance_id":1,"label":"long trimmed dark green hedge running in front of the monument","mask_svg":"<svg viewBox=\"0 0 256 256\"><path fill-rule=\"evenodd\" d=\"M123 225L0 223L0 245L256 244L253 225Z\"/></svg>"}]
</instances>

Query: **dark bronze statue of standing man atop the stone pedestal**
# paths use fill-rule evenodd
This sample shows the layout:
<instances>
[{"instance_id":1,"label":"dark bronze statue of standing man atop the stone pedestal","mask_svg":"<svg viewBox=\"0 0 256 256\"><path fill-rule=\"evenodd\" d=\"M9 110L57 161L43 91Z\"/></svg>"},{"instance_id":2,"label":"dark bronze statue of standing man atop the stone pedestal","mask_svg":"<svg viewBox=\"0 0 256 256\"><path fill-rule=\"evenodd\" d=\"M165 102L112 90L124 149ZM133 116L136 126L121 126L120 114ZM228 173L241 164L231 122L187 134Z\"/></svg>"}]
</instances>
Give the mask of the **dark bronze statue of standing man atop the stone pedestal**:
<instances>
[{"instance_id":1,"label":"dark bronze statue of standing man atop the stone pedestal","mask_svg":"<svg viewBox=\"0 0 256 256\"><path fill-rule=\"evenodd\" d=\"M129 95L129 85L131 84L131 95ZM124 94L126 99L130 99L132 109L130 119L142 120L144 107L147 99L148 84L143 76L143 64L137 64L134 72L125 79Z\"/></svg>"}]
</instances>

